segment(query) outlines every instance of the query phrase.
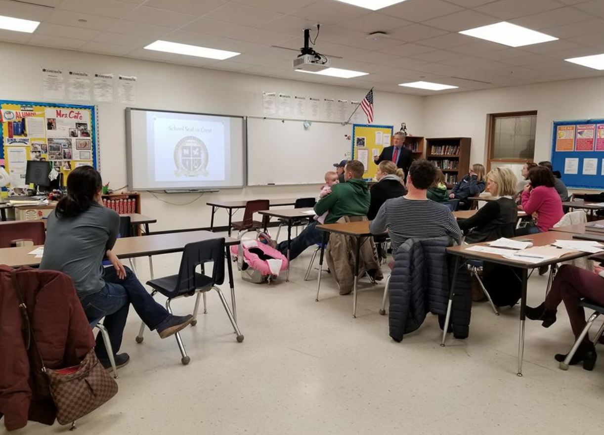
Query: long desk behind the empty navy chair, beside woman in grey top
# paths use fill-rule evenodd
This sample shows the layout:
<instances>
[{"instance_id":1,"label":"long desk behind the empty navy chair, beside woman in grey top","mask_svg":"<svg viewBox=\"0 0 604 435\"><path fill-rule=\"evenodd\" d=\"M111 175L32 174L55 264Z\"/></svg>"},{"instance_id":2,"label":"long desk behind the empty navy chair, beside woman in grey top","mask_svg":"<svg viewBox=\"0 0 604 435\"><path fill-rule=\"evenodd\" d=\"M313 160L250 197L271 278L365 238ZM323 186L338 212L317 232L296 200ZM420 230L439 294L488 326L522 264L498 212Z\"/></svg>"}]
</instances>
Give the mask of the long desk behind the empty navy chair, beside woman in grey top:
<instances>
[{"instance_id":1,"label":"long desk behind the empty navy chair, beside woman in grey top","mask_svg":"<svg viewBox=\"0 0 604 435\"><path fill-rule=\"evenodd\" d=\"M115 240L113 252L120 259L136 257L150 257L160 254L178 253L184 250L187 243L202 242L204 240L218 239L216 233L211 231L188 231L184 233L151 234L145 237L126 237ZM231 306L233 317L236 318L235 287L233 282L233 265L231 264L231 253L229 248L238 245L239 240L225 237L226 264L228 267L228 279L231 286ZM28 255L36 247L1 248L0 264L11 266L39 266L40 258Z\"/></svg>"}]
</instances>

